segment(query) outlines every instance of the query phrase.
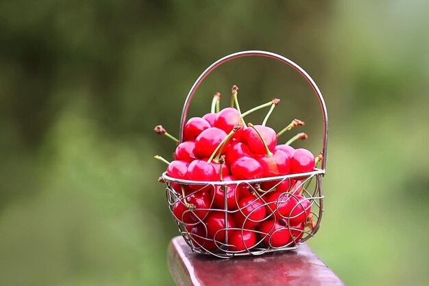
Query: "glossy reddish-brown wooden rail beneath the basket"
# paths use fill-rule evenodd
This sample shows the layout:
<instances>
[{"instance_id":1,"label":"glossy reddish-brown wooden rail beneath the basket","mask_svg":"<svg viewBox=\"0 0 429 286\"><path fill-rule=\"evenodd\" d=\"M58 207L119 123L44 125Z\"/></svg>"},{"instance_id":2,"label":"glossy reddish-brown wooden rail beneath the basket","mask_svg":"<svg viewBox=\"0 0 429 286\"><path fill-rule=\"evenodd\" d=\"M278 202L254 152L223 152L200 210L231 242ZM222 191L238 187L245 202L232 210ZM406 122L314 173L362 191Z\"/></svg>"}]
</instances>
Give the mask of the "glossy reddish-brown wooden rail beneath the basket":
<instances>
[{"instance_id":1,"label":"glossy reddish-brown wooden rail beneath the basket","mask_svg":"<svg viewBox=\"0 0 429 286\"><path fill-rule=\"evenodd\" d=\"M292 251L219 259L192 252L183 237L174 237L168 263L177 285L343 285L306 244Z\"/></svg>"}]
</instances>

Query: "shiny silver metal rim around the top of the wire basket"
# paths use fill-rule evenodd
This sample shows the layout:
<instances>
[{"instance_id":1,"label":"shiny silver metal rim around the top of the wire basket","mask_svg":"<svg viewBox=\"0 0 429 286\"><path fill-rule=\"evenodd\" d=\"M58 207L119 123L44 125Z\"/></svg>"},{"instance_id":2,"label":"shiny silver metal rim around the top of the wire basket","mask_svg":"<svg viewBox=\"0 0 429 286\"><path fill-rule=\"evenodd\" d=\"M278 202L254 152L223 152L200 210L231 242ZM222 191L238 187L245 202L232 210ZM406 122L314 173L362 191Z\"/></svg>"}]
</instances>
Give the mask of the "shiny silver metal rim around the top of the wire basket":
<instances>
[{"instance_id":1,"label":"shiny silver metal rim around the top of the wire basket","mask_svg":"<svg viewBox=\"0 0 429 286\"><path fill-rule=\"evenodd\" d=\"M176 179L173 177L169 177L167 175L167 171L162 173L162 179L164 181L172 182L172 183L180 183L182 185L239 185L243 183L264 183L264 182L270 182L270 181L281 181L284 179L294 179L298 177L310 177L317 174L324 175L326 173L325 170L314 168L311 172L304 172L304 173L297 173L297 174L286 174L283 176L277 176L277 177L265 177L265 178L259 178L259 179L248 179L248 180L235 180L235 181L191 181L191 180L182 180L182 179Z\"/></svg>"}]
</instances>

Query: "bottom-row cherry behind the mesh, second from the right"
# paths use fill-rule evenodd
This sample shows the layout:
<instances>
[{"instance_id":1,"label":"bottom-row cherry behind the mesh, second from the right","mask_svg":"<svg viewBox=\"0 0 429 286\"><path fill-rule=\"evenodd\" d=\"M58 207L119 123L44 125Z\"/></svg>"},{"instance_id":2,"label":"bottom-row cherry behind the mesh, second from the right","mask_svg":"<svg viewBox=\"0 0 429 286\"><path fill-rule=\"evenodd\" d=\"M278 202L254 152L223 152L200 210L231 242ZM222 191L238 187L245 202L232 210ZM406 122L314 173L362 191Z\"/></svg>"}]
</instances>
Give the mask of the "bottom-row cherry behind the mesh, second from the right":
<instances>
[{"instance_id":1,"label":"bottom-row cherry behind the mesh, second from the right","mask_svg":"<svg viewBox=\"0 0 429 286\"><path fill-rule=\"evenodd\" d=\"M258 231L267 246L278 248L290 243L291 235L284 220L264 220L259 224Z\"/></svg>"}]
</instances>

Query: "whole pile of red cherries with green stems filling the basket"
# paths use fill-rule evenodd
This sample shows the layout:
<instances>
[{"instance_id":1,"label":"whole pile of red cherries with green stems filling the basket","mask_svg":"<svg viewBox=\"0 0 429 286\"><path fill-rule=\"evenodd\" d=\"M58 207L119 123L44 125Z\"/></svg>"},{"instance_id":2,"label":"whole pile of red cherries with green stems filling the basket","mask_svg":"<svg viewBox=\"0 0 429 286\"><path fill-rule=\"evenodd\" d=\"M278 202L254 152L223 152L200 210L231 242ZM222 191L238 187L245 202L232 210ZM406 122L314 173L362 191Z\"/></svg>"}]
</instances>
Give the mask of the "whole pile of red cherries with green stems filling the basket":
<instances>
[{"instance_id":1,"label":"whole pile of red cherries with green stems filling the basket","mask_svg":"<svg viewBox=\"0 0 429 286\"><path fill-rule=\"evenodd\" d=\"M220 109L217 93L210 113L190 118L184 125L183 142L162 126L155 128L177 142L173 161L155 156L168 164L167 177L160 181L167 183L174 198L173 215L195 248L244 252L256 246L293 246L306 228L314 227L312 200L305 195L309 175L259 183L248 180L312 172L321 155L290 146L306 139L305 133L278 143L280 135L304 125L295 119L279 133L266 126L279 99L242 113L237 90L233 86L231 107ZM245 116L264 107L270 109L261 125L245 123ZM177 183L168 177L192 182Z\"/></svg>"}]
</instances>

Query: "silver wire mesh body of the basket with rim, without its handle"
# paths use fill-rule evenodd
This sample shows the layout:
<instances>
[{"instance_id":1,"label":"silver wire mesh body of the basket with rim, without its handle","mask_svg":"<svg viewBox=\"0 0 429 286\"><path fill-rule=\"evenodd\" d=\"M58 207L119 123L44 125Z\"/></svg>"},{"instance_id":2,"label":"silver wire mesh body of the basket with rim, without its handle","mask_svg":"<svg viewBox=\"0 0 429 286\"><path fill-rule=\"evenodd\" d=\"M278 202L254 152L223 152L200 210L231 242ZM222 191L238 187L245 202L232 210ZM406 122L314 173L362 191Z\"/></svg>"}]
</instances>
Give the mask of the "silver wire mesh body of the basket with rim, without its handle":
<instances>
[{"instance_id":1,"label":"silver wire mesh body of the basket with rim, without its handle","mask_svg":"<svg viewBox=\"0 0 429 286\"><path fill-rule=\"evenodd\" d=\"M292 174L282 177L272 177L248 181L219 181L202 182L173 179L162 174L166 185L167 201L169 209L179 231L184 237L186 244L194 251L206 255L213 255L221 258L230 258L241 255L262 255L266 252L281 250L294 250L299 244L302 244L317 233L323 212L323 194L321 188L321 177L324 171L315 169L314 172L302 174ZM295 180L300 179L301 181ZM269 190L260 189L260 184L271 182L272 187ZM277 190L280 185L286 185L286 189ZM192 187L191 187L192 186ZM183 188L182 188L183 187ZM234 207L228 206L225 196L223 208L216 207L215 188L221 189L226 195L226 188L234 190ZM238 189L240 192L238 192ZM186 192L182 192L186 190ZM249 192L246 194L245 192ZM281 193L277 200L268 201L267 198L274 192ZM203 194L206 193L206 194ZM239 196L236 194L239 193ZM183 196L184 194L184 196ZM206 208L190 207L187 203L188 198L192 196L208 196L210 205ZM238 201L243 197L253 196L253 199L244 205L238 207ZM294 200L294 207L284 213L282 205L289 200ZM249 205L258 201L258 207L252 211L245 211ZM180 217L175 215L175 208L185 208ZM256 220L252 214L260 208L265 208L265 216ZM217 230L214 235L209 235L206 220L211 213L221 213L223 216L223 228ZM234 220L239 225L235 227L228 226L228 219L240 216L240 220ZM274 229L274 222L281 220L282 227ZM299 223L296 223L296 220ZM272 222L271 228L260 229L260 224L265 221ZM242 223L241 223L242 222ZM248 227L252 222L252 227ZM241 231L241 239L244 246L243 250L236 250L236 246L231 244L230 235L233 231ZM243 239L245 233L252 232L256 235L256 244L247 246ZM275 239L282 240L279 245Z\"/></svg>"}]
</instances>

